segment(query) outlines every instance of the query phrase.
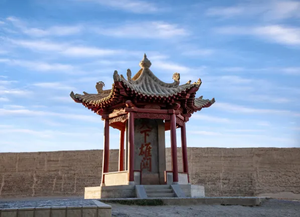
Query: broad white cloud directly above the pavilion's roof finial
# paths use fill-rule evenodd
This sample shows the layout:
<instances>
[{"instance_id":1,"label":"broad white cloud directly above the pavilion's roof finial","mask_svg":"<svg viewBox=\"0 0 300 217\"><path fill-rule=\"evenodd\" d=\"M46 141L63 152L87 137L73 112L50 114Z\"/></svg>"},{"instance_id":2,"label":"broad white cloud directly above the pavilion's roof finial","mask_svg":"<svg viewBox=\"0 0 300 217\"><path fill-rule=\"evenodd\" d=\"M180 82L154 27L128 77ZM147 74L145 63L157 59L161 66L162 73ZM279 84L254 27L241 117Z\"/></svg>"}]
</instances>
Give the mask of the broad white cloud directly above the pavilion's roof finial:
<instances>
[{"instance_id":1,"label":"broad white cloud directly above the pavilion's roof finial","mask_svg":"<svg viewBox=\"0 0 300 217\"><path fill-rule=\"evenodd\" d=\"M142 22L125 24L116 28L94 29L96 33L122 38L168 39L188 36L189 32L175 24L165 22Z\"/></svg>"}]
</instances>

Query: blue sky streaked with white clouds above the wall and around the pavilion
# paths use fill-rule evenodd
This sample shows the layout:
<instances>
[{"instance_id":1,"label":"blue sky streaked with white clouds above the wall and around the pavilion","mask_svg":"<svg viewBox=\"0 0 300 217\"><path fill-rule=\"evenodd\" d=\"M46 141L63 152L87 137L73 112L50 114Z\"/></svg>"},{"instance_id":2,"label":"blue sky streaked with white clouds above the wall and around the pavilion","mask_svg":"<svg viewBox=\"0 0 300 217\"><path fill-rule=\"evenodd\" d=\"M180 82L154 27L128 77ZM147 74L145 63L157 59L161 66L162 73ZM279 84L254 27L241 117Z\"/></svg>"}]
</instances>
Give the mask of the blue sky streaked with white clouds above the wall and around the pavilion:
<instances>
[{"instance_id":1,"label":"blue sky streaked with white clouds above the wall and around the pavilion","mask_svg":"<svg viewBox=\"0 0 300 217\"><path fill-rule=\"evenodd\" d=\"M0 0L0 152L102 149L101 117L69 93L110 88L144 53L216 98L189 147L300 147L299 1Z\"/></svg>"}]
</instances>

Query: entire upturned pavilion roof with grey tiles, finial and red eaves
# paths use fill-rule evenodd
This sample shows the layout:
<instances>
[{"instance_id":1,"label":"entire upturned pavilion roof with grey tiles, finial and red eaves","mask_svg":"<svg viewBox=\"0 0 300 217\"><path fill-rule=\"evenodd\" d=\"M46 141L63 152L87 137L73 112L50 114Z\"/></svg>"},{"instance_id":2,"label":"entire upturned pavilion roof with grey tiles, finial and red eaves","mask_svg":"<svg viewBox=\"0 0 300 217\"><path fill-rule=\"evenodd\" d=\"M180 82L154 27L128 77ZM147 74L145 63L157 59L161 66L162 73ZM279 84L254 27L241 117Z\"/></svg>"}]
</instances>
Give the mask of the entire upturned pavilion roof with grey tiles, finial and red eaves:
<instances>
[{"instance_id":1,"label":"entire upturned pavilion roof with grey tiles, finial and red eaves","mask_svg":"<svg viewBox=\"0 0 300 217\"><path fill-rule=\"evenodd\" d=\"M185 84L179 85L179 73L173 74L172 83L165 83L157 78L149 69L151 62L147 59L146 54L140 62L141 69L136 75L132 77L131 70L127 70L127 79L123 75L119 75L117 71L114 72L114 84L112 89L103 90L105 84L100 81L96 83L98 93L89 94L83 92L82 94L74 94L73 91L70 96L75 102L83 103L86 107L92 108L94 112L101 108L105 108L116 104L123 100L123 97L133 97L151 101L171 102L180 100L187 112L195 112L201 110L203 107L209 107L215 99L202 99L202 96L195 98L195 92L201 85L201 79L194 83L188 81Z\"/></svg>"}]
</instances>

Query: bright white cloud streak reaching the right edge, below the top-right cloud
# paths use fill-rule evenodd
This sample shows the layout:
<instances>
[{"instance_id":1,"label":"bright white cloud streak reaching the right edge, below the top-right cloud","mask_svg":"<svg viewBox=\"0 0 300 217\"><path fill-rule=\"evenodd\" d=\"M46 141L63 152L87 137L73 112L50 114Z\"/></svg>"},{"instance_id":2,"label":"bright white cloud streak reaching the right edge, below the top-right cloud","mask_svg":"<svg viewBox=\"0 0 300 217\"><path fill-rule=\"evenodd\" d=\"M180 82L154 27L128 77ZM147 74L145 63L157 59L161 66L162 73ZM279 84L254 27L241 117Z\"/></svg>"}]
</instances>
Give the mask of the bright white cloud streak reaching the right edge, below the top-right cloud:
<instances>
[{"instance_id":1,"label":"bright white cloud streak reaching the right edge, below the top-right cloud","mask_svg":"<svg viewBox=\"0 0 300 217\"><path fill-rule=\"evenodd\" d=\"M258 26L258 27L221 27L216 31L228 35L256 36L268 42L283 45L300 45L300 28L286 27L280 25Z\"/></svg>"}]
</instances>

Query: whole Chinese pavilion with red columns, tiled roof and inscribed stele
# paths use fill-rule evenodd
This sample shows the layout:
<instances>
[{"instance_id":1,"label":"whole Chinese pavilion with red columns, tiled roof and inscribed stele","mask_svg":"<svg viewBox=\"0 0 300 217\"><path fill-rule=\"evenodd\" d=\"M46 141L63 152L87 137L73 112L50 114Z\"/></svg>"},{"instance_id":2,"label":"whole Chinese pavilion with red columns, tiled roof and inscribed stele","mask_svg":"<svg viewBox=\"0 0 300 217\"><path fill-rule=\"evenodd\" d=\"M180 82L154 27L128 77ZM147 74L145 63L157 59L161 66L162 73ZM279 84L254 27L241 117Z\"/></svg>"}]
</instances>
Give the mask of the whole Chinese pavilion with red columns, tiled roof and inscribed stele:
<instances>
[{"instance_id":1,"label":"whole Chinese pavilion with red columns, tiled roof and inscribed stele","mask_svg":"<svg viewBox=\"0 0 300 217\"><path fill-rule=\"evenodd\" d=\"M161 81L149 69L151 62L146 54L139 65L141 69L133 77L131 70L127 70L127 79L115 71L111 89L104 90L104 82L99 81L95 94L70 93L75 102L82 103L104 121L101 187L86 187L85 198L130 197L122 193L123 196L112 195L109 190L114 189L116 194L116 189L133 189L135 185L189 184L185 123L194 112L210 107L215 99L195 97L201 79L179 85L180 75L174 73L174 82ZM120 130L119 171L116 172L109 172L110 127ZM180 172L176 128L181 129L183 171ZM171 171L166 171L165 158L165 131L168 130L171 135ZM93 192L88 196L87 191L95 188L100 193Z\"/></svg>"}]
</instances>

